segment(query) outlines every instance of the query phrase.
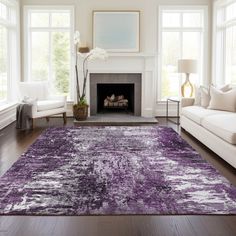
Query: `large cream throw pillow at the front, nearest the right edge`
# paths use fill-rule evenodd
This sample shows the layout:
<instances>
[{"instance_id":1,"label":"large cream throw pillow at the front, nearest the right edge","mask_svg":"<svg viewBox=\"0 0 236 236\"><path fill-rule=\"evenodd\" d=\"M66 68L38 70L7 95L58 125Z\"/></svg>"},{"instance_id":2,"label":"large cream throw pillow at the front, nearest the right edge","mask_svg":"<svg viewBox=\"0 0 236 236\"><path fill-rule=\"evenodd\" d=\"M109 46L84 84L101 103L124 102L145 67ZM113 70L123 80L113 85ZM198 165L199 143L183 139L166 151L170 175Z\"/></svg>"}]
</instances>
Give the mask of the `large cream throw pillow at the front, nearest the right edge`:
<instances>
[{"instance_id":1,"label":"large cream throw pillow at the front, nearest the right edge","mask_svg":"<svg viewBox=\"0 0 236 236\"><path fill-rule=\"evenodd\" d=\"M222 90L216 89L211 86L210 95L211 101L208 109L235 112L236 89L222 92Z\"/></svg>"}]
</instances>

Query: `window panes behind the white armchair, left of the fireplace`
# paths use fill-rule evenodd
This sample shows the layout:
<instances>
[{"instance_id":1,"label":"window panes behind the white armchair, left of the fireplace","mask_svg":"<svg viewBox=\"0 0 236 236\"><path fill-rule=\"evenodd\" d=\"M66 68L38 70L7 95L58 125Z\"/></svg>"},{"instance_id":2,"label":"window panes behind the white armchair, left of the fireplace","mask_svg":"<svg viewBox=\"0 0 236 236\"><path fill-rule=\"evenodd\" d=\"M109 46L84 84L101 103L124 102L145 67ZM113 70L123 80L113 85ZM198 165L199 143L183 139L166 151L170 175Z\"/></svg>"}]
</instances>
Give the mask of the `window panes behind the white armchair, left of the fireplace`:
<instances>
[{"instance_id":1,"label":"window panes behind the white armchair, left of the fireplace","mask_svg":"<svg viewBox=\"0 0 236 236\"><path fill-rule=\"evenodd\" d=\"M26 68L30 81L48 81L72 99L73 8L26 7Z\"/></svg>"}]
</instances>

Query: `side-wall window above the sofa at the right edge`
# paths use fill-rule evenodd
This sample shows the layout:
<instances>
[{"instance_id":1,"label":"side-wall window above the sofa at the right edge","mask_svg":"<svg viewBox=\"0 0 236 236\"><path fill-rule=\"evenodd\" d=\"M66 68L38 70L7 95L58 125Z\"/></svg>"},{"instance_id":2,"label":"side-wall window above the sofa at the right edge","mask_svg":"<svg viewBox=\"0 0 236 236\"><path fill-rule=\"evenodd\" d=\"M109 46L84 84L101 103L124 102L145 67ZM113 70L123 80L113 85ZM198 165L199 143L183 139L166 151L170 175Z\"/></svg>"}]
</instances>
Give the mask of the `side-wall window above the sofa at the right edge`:
<instances>
[{"instance_id":1,"label":"side-wall window above the sofa at the right edge","mask_svg":"<svg viewBox=\"0 0 236 236\"><path fill-rule=\"evenodd\" d=\"M214 6L213 79L216 84L236 84L236 1Z\"/></svg>"}]
</instances>

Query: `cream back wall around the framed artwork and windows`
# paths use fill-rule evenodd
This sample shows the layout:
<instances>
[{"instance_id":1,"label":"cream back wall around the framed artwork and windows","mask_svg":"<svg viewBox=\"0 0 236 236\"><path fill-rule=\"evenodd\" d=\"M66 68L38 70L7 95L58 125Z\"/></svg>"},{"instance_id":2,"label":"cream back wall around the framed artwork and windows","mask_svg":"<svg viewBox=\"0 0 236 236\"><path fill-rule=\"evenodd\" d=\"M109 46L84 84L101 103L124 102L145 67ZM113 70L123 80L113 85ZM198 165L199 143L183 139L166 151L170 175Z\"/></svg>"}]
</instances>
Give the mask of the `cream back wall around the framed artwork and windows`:
<instances>
[{"instance_id":1,"label":"cream back wall around the framed artwork and windows","mask_svg":"<svg viewBox=\"0 0 236 236\"><path fill-rule=\"evenodd\" d=\"M207 5L209 9L209 49L208 49L208 78L211 78L211 24L212 24L212 0L21 0L21 22L23 22L23 7L25 5L74 5L75 27L82 36L82 41L92 47L92 11L93 10L140 10L141 11L141 52L157 53L158 41L158 6L159 5ZM23 25L22 25L23 29ZM23 32L22 32L23 42ZM24 65L22 49L22 65ZM22 68L22 80L24 68ZM165 115L165 106L156 104L156 115Z\"/></svg>"}]
</instances>

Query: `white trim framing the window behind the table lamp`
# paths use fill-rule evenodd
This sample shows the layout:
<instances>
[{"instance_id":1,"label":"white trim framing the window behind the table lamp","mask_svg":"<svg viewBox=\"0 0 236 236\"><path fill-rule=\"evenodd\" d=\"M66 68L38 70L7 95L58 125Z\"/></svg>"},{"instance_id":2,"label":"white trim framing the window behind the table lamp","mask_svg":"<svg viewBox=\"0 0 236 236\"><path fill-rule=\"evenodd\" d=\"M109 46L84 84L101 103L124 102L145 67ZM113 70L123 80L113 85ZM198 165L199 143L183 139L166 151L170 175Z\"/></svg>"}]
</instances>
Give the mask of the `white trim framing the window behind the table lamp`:
<instances>
[{"instance_id":1,"label":"white trim framing the window behind the table lamp","mask_svg":"<svg viewBox=\"0 0 236 236\"><path fill-rule=\"evenodd\" d=\"M203 26L202 27L162 27L162 12L163 10L166 10L168 12L168 10L170 12L173 12L176 10L176 12L179 11L186 11L186 12L199 12L200 10L203 13L203 17L204 17L204 22L203 22ZM207 5L160 5L158 7L158 42L157 42L157 48L158 48L158 79L157 79L157 96L156 96L156 102L158 104L162 104L165 103L165 101L163 101L161 99L161 89L162 89L162 77L161 77L161 68L162 68L162 32L174 32L176 30L176 32L202 32L203 33L203 47L202 47L202 58L203 58L203 62L202 62L202 71L201 71L201 80L199 81L200 83L205 83L205 81L207 81L207 75L208 75L208 33L209 33L209 29L208 29L208 6ZM181 22L182 23L182 22ZM163 30L164 29L164 30ZM194 31L193 31L194 30ZM199 31L197 31L199 30ZM181 34L182 35L182 34ZM182 42L182 38L180 39L180 41ZM181 48L180 48L181 52L182 52L182 44L181 44ZM181 86L181 81L179 82L180 86ZM180 86L179 86L179 90L180 90Z\"/></svg>"}]
</instances>

